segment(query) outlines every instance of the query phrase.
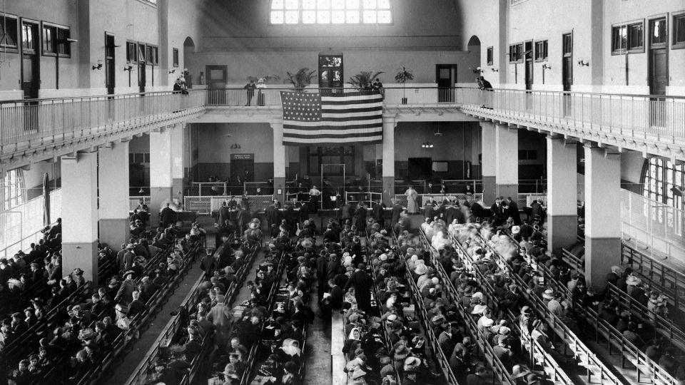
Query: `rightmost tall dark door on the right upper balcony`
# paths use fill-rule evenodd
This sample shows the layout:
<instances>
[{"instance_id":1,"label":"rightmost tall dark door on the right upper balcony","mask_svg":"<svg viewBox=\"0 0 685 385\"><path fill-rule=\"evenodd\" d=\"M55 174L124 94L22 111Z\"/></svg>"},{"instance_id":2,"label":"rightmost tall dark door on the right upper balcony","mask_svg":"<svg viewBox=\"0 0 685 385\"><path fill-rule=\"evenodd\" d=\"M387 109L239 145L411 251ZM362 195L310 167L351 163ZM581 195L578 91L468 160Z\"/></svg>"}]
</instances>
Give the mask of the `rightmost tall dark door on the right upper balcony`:
<instances>
[{"instance_id":1,"label":"rightmost tall dark door on the right upper balcony","mask_svg":"<svg viewBox=\"0 0 685 385\"><path fill-rule=\"evenodd\" d=\"M665 96L669 86L669 53L668 29L666 18L649 21L649 93L655 96ZM652 126L666 126L666 108L664 98L650 98L650 124Z\"/></svg>"}]
</instances>

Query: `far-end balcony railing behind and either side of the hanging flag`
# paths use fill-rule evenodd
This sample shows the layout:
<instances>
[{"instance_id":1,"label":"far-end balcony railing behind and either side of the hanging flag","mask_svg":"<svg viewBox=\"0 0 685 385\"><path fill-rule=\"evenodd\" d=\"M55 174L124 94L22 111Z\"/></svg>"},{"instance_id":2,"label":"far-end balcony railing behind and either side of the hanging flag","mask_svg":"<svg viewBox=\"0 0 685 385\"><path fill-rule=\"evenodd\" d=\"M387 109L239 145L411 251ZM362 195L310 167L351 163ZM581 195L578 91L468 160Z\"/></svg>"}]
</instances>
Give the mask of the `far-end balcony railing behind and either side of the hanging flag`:
<instances>
[{"instance_id":1,"label":"far-end balcony railing behind and either side of the hanging flag","mask_svg":"<svg viewBox=\"0 0 685 385\"><path fill-rule=\"evenodd\" d=\"M390 87L383 90L384 104L392 106L445 106L457 103L459 88L437 87ZM230 107L280 107L281 91L295 91L295 88L262 88L247 91L243 88L226 88L209 91L209 106ZM322 95L355 91L353 88L305 88L309 93Z\"/></svg>"}]
</instances>

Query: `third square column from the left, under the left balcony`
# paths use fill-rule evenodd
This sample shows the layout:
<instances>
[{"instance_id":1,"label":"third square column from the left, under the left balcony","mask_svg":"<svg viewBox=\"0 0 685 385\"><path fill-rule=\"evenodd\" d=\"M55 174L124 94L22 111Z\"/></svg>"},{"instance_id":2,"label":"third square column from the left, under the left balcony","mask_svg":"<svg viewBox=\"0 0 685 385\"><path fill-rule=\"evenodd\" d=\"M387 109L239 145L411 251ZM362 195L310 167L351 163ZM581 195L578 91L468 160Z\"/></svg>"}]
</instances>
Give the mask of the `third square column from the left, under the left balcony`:
<instances>
[{"instance_id":1,"label":"third square column from the left, under the left balcony","mask_svg":"<svg viewBox=\"0 0 685 385\"><path fill-rule=\"evenodd\" d=\"M150 133L150 212L151 226L159 223L159 212L173 198L171 178L171 128Z\"/></svg>"}]
</instances>

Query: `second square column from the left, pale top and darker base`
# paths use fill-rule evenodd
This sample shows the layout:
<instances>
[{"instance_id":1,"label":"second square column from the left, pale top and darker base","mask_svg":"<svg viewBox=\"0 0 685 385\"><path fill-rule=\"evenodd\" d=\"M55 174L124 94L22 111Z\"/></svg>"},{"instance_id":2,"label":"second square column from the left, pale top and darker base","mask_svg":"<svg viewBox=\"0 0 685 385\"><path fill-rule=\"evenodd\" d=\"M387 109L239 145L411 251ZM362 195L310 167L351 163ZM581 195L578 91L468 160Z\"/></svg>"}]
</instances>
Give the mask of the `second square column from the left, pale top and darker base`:
<instances>
[{"instance_id":1,"label":"second square column from the left, pale top and darker base","mask_svg":"<svg viewBox=\"0 0 685 385\"><path fill-rule=\"evenodd\" d=\"M120 250L128 240L128 141L100 148L100 242Z\"/></svg>"}]
</instances>

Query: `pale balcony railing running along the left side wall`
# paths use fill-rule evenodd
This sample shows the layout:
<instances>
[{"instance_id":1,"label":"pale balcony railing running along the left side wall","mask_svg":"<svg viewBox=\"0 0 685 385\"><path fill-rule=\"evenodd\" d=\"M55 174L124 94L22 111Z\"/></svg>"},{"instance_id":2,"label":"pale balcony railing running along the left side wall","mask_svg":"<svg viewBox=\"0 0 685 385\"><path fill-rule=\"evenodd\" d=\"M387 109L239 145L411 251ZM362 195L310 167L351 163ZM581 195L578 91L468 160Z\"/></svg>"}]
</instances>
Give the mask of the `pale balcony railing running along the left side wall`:
<instances>
[{"instance_id":1,"label":"pale balcony railing running along the left side wall","mask_svg":"<svg viewBox=\"0 0 685 385\"><path fill-rule=\"evenodd\" d=\"M205 91L83 98L26 99L0 102L0 145L40 138L78 135L82 130L132 120L155 120L162 114L205 106Z\"/></svg>"}]
</instances>

